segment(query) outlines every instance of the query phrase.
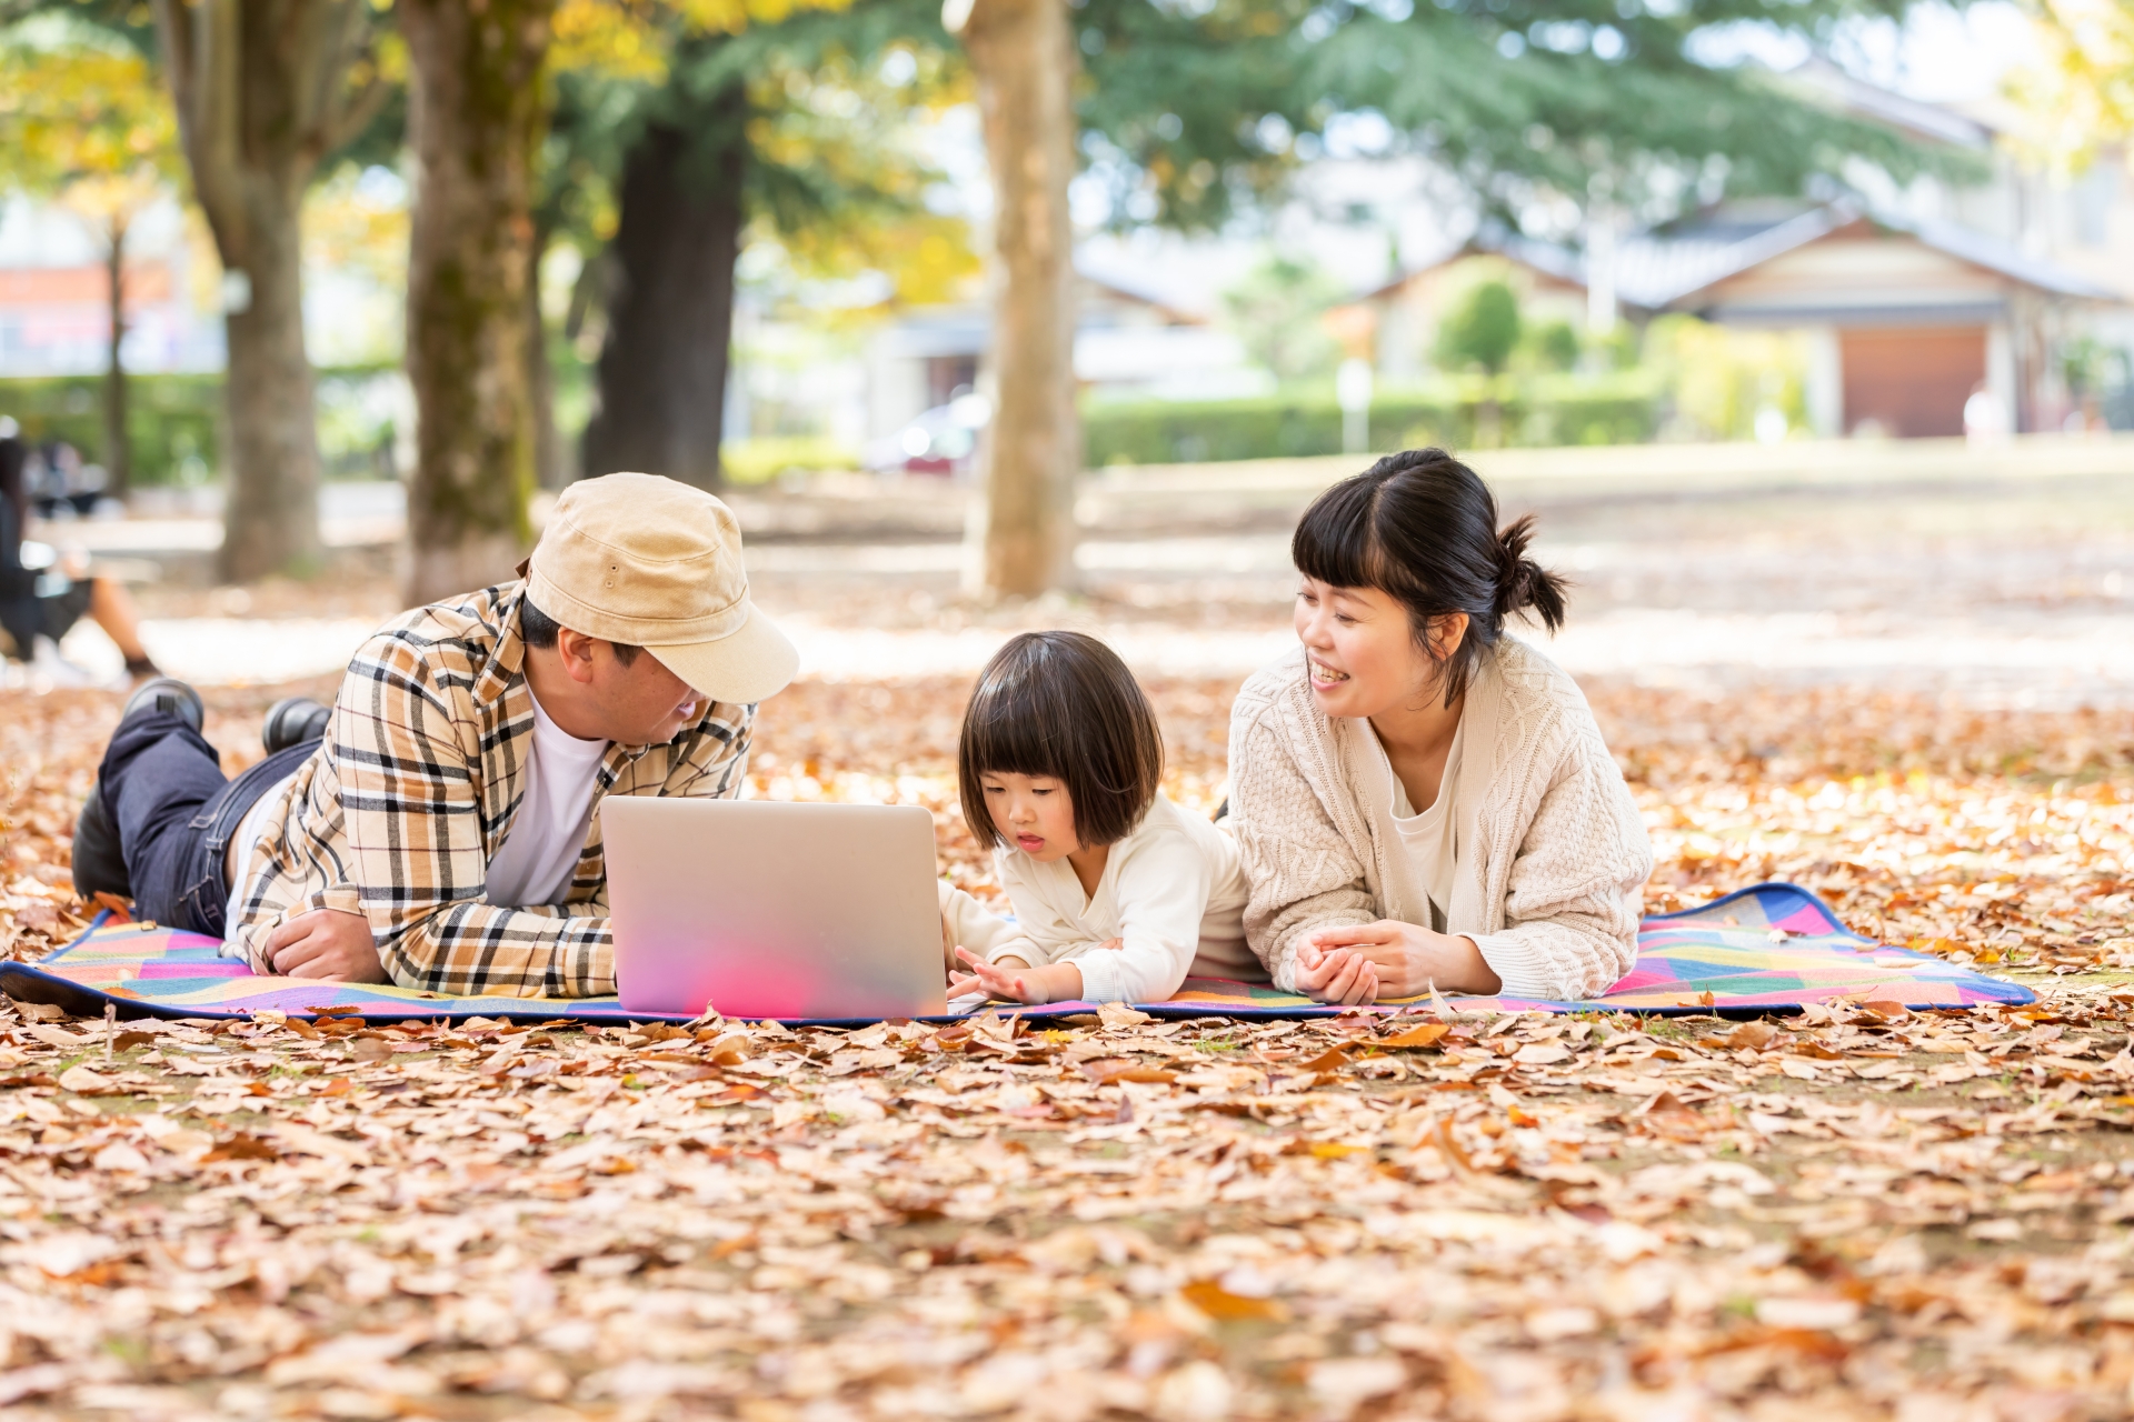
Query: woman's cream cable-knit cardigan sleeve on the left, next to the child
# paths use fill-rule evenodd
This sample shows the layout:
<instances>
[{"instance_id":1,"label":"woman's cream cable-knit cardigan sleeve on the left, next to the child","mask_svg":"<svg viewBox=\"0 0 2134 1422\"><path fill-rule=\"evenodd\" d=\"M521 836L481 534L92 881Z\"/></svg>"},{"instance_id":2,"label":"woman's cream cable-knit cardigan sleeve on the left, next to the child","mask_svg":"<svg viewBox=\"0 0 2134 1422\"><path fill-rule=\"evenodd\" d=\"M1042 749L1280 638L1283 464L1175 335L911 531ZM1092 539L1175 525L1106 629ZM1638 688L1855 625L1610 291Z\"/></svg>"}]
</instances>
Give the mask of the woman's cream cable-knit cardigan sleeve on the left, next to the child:
<instances>
[{"instance_id":1,"label":"woman's cream cable-knit cardigan sleeve on the left, next to the child","mask_svg":"<svg viewBox=\"0 0 2134 1422\"><path fill-rule=\"evenodd\" d=\"M1229 825L1251 885L1244 938L1274 985L1295 991L1306 934L1381 915L1361 859L1280 733L1280 708L1251 691L1246 684L1229 723Z\"/></svg>"}]
</instances>

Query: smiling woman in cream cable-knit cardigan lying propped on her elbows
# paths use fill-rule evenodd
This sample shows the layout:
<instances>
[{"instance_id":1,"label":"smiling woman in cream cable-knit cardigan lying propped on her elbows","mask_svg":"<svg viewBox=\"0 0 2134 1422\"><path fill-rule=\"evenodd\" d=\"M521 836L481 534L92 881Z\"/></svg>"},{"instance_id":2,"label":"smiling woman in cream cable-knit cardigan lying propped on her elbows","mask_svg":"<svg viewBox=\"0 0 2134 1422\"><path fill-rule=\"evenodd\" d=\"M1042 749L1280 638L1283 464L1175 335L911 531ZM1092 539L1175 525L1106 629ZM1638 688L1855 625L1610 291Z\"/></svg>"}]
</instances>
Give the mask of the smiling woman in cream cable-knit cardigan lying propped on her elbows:
<instances>
[{"instance_id":1,"label":"smiling woman in cream cable-knit cardigan lying propped on her elbows","mask_svg":"<svg viewBox=\"0 0 2134 1422\"><path fill-rule=\"evenodd\" d=\"M1502 635L1554 631L1532 518L1443 450L1379 460L1291 542L1304 644L1229 723L1244 930L1321 1002L1592 998L1637 959L1652 844L1577 684Z\"/></svg>"}]
</instances>

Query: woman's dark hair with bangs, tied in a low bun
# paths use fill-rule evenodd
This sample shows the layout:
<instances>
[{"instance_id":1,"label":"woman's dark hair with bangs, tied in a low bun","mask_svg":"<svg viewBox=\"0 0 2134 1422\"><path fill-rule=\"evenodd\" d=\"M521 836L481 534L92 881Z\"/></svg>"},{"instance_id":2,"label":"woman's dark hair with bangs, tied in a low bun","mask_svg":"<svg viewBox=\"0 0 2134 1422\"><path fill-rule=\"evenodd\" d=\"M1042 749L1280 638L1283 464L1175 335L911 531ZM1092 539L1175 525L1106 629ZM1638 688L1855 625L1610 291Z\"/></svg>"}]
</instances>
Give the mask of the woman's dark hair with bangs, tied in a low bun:
<instances>
[{"instance_id":1,"label":"woman's dark hair with bangs, tied in a low bun","mask_svg":"<svg viewBox=\"0 0 2134 1422\"><path fill-rule=\"evenodd\" d=\"M1564 625L1568 584L1526 556L1534 516L1504 529L1496 518L1496 495L1472 469L1445 450L1404 450L1319 495L1289 556L1306 578L1400 601L1451 706L1509 614L1532 610L1549 631ZM1430 625L1451 612L1466 612L1468 631L1438 657Z\"/></svg>"}]
</instances>

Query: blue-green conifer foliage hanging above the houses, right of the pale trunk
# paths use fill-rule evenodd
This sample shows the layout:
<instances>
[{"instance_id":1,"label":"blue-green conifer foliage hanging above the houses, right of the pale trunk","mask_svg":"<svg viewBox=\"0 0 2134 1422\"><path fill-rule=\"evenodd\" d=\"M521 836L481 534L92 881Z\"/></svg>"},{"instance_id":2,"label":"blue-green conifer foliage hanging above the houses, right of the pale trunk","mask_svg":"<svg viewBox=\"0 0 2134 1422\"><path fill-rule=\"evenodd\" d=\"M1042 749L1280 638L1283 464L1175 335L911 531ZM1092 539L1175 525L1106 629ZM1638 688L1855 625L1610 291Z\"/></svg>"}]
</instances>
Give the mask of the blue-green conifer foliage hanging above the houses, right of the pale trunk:
<instances>
[{"instance_id":1,"label":"blue-green conifer foliage hanging above the houses, right of the pale trunk","mask_svg":"<svg viewBox=\"0 0 2134 1422\"><path fill-rule=\"evenodd\" d=\"M1214 228L1329 136L1423 156L1492 213L1541 198L1667 215L1684 200L1797 194L1859 156L1925 153L1780 77L1699 62L1718 26L1827 38L1908 0L1086 0L1082 149L1120 226ZM1355 124L1357 115L1383 126Z\"/></svg>"}]
</instances>

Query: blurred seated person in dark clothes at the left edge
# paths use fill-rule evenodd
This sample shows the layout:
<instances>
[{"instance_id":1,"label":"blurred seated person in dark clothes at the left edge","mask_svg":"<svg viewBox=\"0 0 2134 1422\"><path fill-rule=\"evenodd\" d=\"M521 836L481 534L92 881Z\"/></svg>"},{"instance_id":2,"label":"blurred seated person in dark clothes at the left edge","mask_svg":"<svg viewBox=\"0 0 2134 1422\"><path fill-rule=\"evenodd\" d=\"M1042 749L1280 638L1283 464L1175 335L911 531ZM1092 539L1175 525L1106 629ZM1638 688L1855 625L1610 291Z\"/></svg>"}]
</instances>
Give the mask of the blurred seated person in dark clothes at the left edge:
<instances>
[{"instance_id":1,"label":"blurred seated person in dark clothes at the left edge","mask_svg":"<svg viewBox=\"0 0 2134 1422\"><path fill-rule=\"evenodd\" d=\"M160 676L141 646L141 618L126 588L90 571L87 554L58 554L23 539L30 524L30 448L15 420L0 416L0 652L28 663L60 663L60 640L83 614L117 642L126 676ZM38 640L51 650L38 648Z\"/></svg>"}]
</instances>

